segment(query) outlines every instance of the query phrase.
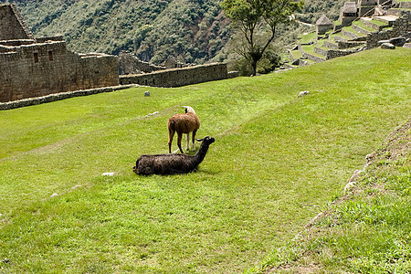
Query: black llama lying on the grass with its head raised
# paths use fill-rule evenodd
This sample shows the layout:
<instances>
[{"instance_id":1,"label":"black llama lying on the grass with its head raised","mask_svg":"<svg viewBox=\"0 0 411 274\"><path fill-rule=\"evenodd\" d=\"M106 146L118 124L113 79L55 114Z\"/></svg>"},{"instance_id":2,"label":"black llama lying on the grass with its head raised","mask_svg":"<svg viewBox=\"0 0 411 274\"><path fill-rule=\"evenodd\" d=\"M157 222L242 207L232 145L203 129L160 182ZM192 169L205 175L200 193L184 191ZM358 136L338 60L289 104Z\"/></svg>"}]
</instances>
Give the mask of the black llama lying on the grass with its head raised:
<instances>
[{"instance_id":1,"label":"black llama lying on the grass with its head raised","mask_svg":"<svg viewBox=\"0 0 411 274\"><path fill-rule=\"evenodd\" d=\"M195 155L187 155L181 153L168 153L156 155L142 155L137 159L132 170L140 175L152 174L188 174L195 171L198 164L203 162L208 147L216 140L213 137L205 137L201 140L200 149Z\"/></svg>"}]
</instances>

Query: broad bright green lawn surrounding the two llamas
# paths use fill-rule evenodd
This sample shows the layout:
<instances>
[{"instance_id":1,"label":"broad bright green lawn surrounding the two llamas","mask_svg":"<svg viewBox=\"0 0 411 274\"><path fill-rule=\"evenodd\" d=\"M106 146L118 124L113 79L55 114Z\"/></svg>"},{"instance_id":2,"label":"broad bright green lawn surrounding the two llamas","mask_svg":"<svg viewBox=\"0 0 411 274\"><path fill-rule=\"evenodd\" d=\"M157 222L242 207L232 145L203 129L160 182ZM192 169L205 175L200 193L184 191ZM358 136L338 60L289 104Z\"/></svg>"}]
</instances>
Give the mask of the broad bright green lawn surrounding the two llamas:
<instances>
[{"instance_id":1,"label":"broad bright green lawn surrounding the two llamas","mask_svg":"<svg viewBox=\"0 0 411 274\"><path fill-rule=\"evenodd\" d=\"M258 78L0 112L0 269L258 265L406 121L409 57L374 49ZM311 93L298 99L301 90ZM216 137L199 172L132 174L140 154L167 151L166 120L187 104L202 121L198 134Z\"/></svg>"}]
</instances>

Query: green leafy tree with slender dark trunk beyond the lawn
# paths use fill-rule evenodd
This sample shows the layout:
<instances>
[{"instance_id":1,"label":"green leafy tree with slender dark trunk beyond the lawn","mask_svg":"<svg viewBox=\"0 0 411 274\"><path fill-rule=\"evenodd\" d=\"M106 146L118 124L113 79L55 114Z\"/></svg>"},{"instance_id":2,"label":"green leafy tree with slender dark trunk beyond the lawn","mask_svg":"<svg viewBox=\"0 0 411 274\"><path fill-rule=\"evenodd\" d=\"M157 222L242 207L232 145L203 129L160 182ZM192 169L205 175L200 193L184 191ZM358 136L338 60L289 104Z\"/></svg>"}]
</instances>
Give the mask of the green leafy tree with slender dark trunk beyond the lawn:
<instances>
[{"instance_id":1,"label":"green leafy tree with slender dark trunk beyond the lawn","mask_svg":"<svg viewBox=\"0 0 411 274\"><path fill-rule=\"evenodd\" d=\"M304 5L301 0L224 0L221 4L227 17L245 38L238 44L237 52L250 62L253 75L258 61L274 40L279 24L290 24L293 14ZM268 32L266 36L259 34Z\"/></svg>"}]
</instances>

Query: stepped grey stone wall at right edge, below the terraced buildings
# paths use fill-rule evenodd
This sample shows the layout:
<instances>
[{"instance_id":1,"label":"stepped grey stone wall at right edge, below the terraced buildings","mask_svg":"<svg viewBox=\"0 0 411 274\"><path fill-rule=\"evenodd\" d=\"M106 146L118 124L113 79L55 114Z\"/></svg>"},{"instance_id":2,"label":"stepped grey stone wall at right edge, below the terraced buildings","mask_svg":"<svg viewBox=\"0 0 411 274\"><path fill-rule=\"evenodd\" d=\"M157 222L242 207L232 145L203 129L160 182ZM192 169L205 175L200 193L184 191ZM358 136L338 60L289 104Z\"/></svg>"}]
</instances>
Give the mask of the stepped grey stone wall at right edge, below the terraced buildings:
<instances>
[{"instance_id":1,"label":"stepped grey stone wall at right edge, below the terraced buildings","mask_svg":"<svg viewBox=\"0 0 411 274\"><path fill-rule=\"evenodd\" d=\"M395 20L393 23L392 29L387 29L385 31L374 32L367 35L367 47L379 47L380 44L378 41L388 40L394 37L401 37L406 35L409 31L411 31L411 16L410 11L403 11L401 12L401 17Z\"/></svg>"}]
</instances>

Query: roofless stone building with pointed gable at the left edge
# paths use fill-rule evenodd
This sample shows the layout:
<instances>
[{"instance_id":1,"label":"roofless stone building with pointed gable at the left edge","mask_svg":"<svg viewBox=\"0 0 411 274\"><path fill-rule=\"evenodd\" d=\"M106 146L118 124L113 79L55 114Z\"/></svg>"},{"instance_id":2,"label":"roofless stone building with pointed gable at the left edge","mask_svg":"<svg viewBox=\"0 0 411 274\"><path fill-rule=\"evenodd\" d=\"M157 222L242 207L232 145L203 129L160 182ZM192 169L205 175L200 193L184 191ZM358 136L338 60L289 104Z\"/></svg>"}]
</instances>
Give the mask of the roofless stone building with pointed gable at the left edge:
<instances>
[{"instance_id":1,"label":"roofless stone building with pointed gable at the left edge","mask_svg":"<svg viewBox=\"0 0 411 274\"><path fill-rule=\"evenodd\" d=\"M0 5L0 102L117 85L117 57L72 52L62 37L36 38L16 5Z\"/></svg>"}]
</instances>

